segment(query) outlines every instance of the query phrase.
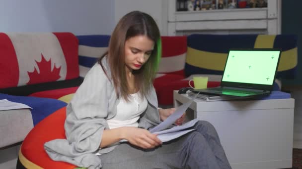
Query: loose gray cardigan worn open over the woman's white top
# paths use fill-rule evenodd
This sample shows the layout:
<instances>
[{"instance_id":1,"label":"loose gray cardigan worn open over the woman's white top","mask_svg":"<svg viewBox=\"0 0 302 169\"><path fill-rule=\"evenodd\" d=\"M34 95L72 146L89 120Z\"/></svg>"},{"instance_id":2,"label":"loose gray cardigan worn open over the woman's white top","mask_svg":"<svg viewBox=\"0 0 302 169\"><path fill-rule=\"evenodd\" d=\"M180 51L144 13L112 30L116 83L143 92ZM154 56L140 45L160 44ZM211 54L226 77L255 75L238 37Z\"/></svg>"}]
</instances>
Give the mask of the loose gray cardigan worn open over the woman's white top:
<instances>
[{"instance_id":1,"label":"loose gray cardigan worn open over the woman's white top","mask_svg":"<svg viewBox=\"0 0 302 169\"><path fill-rule=\"evenodd\" d=\"M111 77L106 57L102 59L102 64L108 77ZM148 107L140 117L139 127L148 129L160 123L153 86L146 98ZM95 153L108 153L117 146L99 149L103 130L109 128L106 120L116 115L118 103L113 84L101 66L95 64L67 105L64 125L67 139L55 139L44 144L49 157L88 169L101 168L101 157Z\"/></svg>"}]
</instances>

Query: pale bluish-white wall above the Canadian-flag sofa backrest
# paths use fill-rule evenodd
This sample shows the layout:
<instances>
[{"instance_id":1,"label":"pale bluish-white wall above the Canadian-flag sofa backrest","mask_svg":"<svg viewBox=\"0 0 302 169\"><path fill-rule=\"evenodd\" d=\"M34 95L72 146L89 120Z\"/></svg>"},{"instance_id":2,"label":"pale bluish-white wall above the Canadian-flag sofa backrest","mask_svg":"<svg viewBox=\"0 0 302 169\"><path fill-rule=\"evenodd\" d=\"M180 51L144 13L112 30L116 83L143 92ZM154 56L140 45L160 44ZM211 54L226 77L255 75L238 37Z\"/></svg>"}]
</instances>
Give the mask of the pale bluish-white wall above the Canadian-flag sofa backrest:
<instances>
[{"instance_id":1,"label":"pale bluish-white wall above the Canadian-flag sofa backrest","mask_svg":"<svg viewBox=\"0 0 302 169\"><path fill-rule=\"evenodd\" d=\"M110 35L114 0L1 0L0 32Z\"/></svg>"}]
</instances>

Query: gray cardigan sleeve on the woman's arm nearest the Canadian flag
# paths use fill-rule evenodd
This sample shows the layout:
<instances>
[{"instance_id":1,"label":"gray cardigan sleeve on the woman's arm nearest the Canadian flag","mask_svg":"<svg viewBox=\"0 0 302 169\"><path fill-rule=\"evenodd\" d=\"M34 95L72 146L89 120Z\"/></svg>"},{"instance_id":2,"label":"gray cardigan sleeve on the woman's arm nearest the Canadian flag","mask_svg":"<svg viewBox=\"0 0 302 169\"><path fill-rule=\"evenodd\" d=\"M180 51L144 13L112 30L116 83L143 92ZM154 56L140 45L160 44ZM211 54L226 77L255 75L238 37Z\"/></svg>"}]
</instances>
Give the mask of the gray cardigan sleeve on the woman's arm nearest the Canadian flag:
<instances>
[{"instance_id":1,"label":"gray cardigan sleeve on the woman's arm nearest the Canadian flag","mask_svg":"<svg viewBox=\"0 0 302 169\"><path fill-rule=\"evenodd\" d=\"M99 148L108 115L105 78L99 65L93 67L67 107L66 137L77 152Z\"/></svg>"}]
</instances>

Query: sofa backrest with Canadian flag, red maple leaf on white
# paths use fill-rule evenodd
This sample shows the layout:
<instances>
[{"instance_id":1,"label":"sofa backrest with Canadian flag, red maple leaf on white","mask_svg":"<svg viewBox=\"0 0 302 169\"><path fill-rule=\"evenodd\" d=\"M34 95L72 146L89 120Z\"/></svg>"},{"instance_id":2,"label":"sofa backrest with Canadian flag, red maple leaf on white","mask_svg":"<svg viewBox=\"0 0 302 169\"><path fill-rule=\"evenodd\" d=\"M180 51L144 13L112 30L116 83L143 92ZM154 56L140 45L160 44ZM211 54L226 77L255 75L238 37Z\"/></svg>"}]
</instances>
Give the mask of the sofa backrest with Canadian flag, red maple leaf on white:
<instances>
[{"instance_id":1,"label":"sofa backrest with Canadian flag, red maple leaf on white","mask_svg":"<svg viewBox=\"0 0 302 169\"><path fill-rule=\"evenodd\" d=\"M71 33L0 33L0 88L78 78Z\"/></svg>"}]
</instances>

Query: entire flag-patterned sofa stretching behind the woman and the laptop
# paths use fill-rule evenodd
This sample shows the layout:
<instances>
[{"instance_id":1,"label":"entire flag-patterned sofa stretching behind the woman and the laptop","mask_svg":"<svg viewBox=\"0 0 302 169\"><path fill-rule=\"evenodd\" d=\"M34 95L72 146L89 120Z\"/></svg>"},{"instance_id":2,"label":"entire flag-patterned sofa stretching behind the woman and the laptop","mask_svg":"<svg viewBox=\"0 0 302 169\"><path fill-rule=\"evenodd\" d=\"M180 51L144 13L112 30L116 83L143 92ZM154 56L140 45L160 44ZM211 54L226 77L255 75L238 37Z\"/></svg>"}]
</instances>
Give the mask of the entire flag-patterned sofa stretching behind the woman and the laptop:
<instances>
[{"instance_id":1,"label":"entire flag-patterned sofa stretching behind the woman and the laptop","mask_svg":"<svg viewBox=\"0 0 302 169\"><path fill-rule=\"evenodd\" d=\"M108 35L75 36L63 32L0 33L0 98L43 98L42 106L38 104L38 107L51 107L42 104L47 101L61 105L54 106L47 113L43 110L41 114L31 112L32 119L38 119L28 127L32 128L70 101L96 59L106 51L109 40ZM281 89L280 80L295 78L298 49L297 37L293 35L193 34L162 36L161 40L162 58L153 83L159 105L172 105L173 90L188 87L189 80L194 76L208 76L208 87L220 85L229 48L281 48L283 52L277 73L279 80L274 90ZM37 115L40 117L36 118ZM0 116L3 119L2 114ZM6 121L18 122L20 117L6 118ZM22 125L20 123L19 127ZM1 132L3 130L0 129ZM22 138L8 141L5 146L19 141Z\"/></svg>"}]
</instances>

